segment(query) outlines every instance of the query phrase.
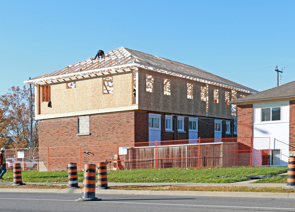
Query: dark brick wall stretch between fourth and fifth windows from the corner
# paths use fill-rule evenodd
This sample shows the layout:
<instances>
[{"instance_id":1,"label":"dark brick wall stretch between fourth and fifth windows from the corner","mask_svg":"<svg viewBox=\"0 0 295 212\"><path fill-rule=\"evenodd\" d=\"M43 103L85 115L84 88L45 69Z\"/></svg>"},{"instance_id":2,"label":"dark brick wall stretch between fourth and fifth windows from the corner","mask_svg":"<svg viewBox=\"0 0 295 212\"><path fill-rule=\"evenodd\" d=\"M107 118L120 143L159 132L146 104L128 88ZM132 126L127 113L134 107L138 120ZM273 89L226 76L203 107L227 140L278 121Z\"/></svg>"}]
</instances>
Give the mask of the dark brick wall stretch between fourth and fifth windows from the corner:
<instances>
[{"instance_id":1,"label":"dark brick wall stretch between fourth and fifth windows from the corner","mask_svg":"<svg viewBox=\"0 0 295 212\"><path fill-rule=\"evenodd\" d=\"M214 119L199 118L198 137L201 139L214 138Z\"/></svg>"}]
</instances>

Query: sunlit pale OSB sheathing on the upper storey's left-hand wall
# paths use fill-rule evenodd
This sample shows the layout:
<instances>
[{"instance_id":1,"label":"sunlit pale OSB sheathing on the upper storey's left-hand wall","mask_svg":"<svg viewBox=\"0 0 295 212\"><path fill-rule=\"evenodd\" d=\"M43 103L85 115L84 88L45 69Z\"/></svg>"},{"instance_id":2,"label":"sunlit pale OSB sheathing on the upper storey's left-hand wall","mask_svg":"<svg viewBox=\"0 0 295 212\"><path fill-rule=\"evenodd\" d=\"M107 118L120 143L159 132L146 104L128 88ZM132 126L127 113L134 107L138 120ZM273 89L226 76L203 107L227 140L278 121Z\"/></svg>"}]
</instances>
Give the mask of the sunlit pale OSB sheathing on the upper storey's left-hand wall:
<instances>
[{"instance_id":1,"label":"sunlit pale OSB sheathing on the upper storey's left-hand wall","mask_svg":"<svg viewBox=\"0 0 295 212\"><path fill-rule=\"evenodd\" d=\"M103 76L113 76L113 93L103 94ZM41 103L41 115L132 105L131 70L77 80L76 88L66 87L66 82L50 85L52 106L47 107L47 102Z\"/></svg>"}]
</instances>

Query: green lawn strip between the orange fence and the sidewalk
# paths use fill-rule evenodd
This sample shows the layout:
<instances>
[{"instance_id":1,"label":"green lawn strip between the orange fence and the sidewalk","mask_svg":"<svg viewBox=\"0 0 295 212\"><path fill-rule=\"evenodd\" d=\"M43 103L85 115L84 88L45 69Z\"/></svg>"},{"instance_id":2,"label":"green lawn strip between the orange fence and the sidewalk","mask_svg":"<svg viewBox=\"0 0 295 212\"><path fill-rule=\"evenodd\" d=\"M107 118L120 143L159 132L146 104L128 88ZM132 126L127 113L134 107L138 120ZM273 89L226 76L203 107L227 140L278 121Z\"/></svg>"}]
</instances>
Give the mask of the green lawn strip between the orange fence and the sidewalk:
<instances>
[{"instance_id":1,"label":"green lawn strip between the orange fence and the sidewalk","mask_svg":"<svg viewBox=\"0 0 295 212\"><path fill-rule=\"evenodd\" d=\"M108 182L119 183L234 183L250 180L245 176L250 175L277 175L287 172L287 167L231 167L231 168L204 168L204 169L142 169L108 171ZM216 178L226 175L226 178ZM244 176L244 177L240 177ZM4 181L13 181L13 172L7 171L3 176ZM267 178L270 181L271 178ZM283 181L282 178L281 181ZM260 183L268 183L262 179ZM68 171L22 171L23 182L68 182ZM83 182L83 172L78 172L78 181ZM286 183L282 182L282 183Z\"/></svg>"}]
</instances>

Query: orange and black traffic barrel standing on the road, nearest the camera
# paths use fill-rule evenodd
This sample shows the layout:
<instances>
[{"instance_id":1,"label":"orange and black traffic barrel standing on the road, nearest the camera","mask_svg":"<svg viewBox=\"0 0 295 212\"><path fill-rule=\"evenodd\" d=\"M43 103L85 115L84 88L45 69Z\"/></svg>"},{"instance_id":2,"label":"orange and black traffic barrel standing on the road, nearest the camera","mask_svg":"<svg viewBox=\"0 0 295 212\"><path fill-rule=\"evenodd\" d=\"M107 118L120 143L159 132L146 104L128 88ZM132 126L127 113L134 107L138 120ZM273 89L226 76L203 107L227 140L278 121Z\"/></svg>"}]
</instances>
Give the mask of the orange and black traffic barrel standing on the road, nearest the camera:
<instances>
[{"instance_id":1,"label":"orange and black traffic barrel standing on the road, nearest the camera","mask_svg":"<svg viewBox=\"0 0 295 212\"><path fill-rule=\"evenodd\" d=\"M85 164L83 175L83 190L82 198L76 201L99 201L101 199L95 197L95 183L96 183L96 165Z\"/></svg>"}]
</instances>

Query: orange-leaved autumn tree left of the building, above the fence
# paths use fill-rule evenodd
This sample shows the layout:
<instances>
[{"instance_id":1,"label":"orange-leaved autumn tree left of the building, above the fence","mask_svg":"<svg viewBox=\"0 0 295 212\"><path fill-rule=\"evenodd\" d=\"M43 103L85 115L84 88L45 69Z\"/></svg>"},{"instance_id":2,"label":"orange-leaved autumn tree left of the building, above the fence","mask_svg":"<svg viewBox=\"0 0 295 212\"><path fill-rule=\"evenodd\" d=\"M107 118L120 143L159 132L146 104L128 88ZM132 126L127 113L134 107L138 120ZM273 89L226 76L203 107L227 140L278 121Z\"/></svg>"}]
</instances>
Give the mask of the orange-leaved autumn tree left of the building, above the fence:
<instances>
[{"instance_id":1,"label":"orange-leaved autumn tree left of the building, above the fence","mask_svg":"<svg viewBox=\"0 0 295 212\"><path fill-rule=\"evenodd\" d=\"M35 120L35 94L32 89L33 138L38 147L38 121ZM17 86L0 98L0 145L9 149L30 147L30 88ZM3 123L3 124L2 124Z\"/></svg>"}]
</instances>

